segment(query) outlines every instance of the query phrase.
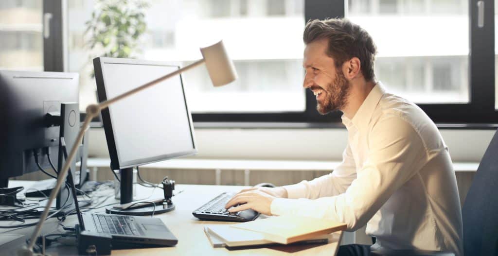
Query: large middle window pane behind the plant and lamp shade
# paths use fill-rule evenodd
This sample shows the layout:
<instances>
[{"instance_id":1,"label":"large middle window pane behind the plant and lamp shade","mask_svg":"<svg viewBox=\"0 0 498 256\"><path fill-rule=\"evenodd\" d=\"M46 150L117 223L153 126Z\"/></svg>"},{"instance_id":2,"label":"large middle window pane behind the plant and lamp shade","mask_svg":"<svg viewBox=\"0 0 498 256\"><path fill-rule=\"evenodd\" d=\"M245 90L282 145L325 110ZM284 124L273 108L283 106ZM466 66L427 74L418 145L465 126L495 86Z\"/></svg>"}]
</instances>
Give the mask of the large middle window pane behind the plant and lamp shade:
<instances>
[{"instance_id":1,"label":"large middle window pane behind the plant and lamp shade","mask_svg":"<svg viewBox=\"0 0 498 256\"><path fill-rule=\"evenodd\" d=\"M110 2L113 1L107 1ZM147 28L137 38L140 43L129 57L186 66L202 58L199 46L223 38L239 80L213 88L204 66L184 73L193 113L303 112L303 4L302 0L151 1L141 9ZM100 1L84 1L83 5L68 9L68 36L73 39L69 71L79 72L82 77L82 108L96 101L90 60L105 52L76 43L79 35L88 41L92 35L84 34L84 24L94 10L104 8ZM125 8L123 5L119 4L120 8Z\"/></svg>"}]
</instances>

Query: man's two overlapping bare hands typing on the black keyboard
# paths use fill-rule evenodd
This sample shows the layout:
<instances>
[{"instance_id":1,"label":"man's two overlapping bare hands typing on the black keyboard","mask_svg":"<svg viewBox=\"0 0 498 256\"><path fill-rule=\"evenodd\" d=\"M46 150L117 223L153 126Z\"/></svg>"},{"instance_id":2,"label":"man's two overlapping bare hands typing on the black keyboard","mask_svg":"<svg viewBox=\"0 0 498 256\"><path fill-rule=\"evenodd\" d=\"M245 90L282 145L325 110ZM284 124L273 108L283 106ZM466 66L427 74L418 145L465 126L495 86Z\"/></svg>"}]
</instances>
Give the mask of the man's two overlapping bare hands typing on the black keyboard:
<instances>
[{"instance_id":1,"label":"man's two overlapping bare hands typing on the black keyboard","mask_svg":"<svg viewBox=\"0 0 498 256\"><path fill-rule=\"evenodd\" d=\"M265 215L271 215L271 202L277 197L287 197L287 190L283 187L246 188L230 199L225 208L229 209L234 205L242 204L228 211L239 212L252 209Z\"/></svg>"}]
</instances>

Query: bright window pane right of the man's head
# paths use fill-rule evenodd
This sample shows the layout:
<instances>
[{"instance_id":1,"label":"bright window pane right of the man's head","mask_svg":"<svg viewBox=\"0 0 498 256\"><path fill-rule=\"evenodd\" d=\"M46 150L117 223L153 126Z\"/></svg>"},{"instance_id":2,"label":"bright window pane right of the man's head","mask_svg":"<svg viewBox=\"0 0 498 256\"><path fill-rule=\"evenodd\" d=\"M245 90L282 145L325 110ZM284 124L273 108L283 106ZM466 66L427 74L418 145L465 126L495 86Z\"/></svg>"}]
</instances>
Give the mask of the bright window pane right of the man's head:
<instances>
[{"instance_id":1,"label":"bright window pane right of the man's head","mask_svg":"<svg viewBox=\"0 0 498 256\"><path fill-rule=\"evenodd\" d=\"M349 0L347 16L373 37L376 77L392 92L416 103L468 103L466 2Z\"/></svg>"}]
</instances>

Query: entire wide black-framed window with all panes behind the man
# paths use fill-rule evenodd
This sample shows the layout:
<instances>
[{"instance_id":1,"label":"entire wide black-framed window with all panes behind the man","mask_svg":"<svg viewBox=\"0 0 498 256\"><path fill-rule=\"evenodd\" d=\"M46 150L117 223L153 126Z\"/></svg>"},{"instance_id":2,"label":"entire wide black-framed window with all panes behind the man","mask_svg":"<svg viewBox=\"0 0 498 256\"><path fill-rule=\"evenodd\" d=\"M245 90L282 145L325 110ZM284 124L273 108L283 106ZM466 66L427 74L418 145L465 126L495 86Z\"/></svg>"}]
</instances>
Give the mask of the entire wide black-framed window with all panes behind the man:
<instances>
[{"instance_id":1,"label":"entire wide black-framed window with all panes behind the man","mask_svg":"<svg viewBox=\"0 0 498 256\"><path fill-rule=\"evenodd\" d=\"M142 1L149 6L129 8L137 19L121 30L128 37L102 37L106 46L94 47L85 22L106 3L126 7L122 1L70 0L64 6L61 1L0 1L0 68L78 72L84 108L96 101L93 57L107 53L185 66L201 58L199 46L223 38L240 79L214 89L205 68L185 73L196 123L339 123L341 113L319 115L315 97L302 89L302 30L309 19L347 16L373 36L376 76L388 90L417 103L436 123L498 122L498 7L493 0L128 2ZM483 16L478 2L484 3ZM42 9L53 14L49 40L42 37ZM62 17L65 33L55 26ZM140 19L146 24L143 33ZM121 41L136 31L136 40Z\"/></svg>"}]
</instances>

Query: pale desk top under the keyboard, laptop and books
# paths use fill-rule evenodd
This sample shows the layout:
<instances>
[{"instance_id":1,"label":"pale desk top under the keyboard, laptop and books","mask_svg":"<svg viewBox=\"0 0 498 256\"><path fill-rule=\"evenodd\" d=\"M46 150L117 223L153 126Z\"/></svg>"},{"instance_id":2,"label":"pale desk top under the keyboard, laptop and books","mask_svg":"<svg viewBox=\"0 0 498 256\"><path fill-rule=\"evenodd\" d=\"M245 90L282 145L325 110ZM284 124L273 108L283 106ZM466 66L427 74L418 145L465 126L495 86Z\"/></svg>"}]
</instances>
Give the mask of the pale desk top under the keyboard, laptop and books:
<instances>
[{"instance_id":1,"label":"pale desk top under the keyboard, laptop and books","mask_svg":"<svg viewBox=\"0 0 498 256\"><path fill-rule=\"evenodd\" d=\"M29 187L32 182L28 181L10 181L10 186L24 185ZM217 186L217 185L182 185L175 186L173 203L176 209L156 215L166 226L173 232L178 239L178 244L175 247L166 248L148 248L148 249L133 249L133 250L114 250L113 256L116 255L326 255L334 256L340 242L342 232L332 233L330 235L329 244L326 245L301 245L301 246L276 246L271 248L250 249L229 251L225 248L213 248L204 234L204 225L222 225L233 222L215 222L215 221L200 221L192 216L192 211L208 202L218 194L224 191L238 191L243 186ZM155 189L151 193L151 188L137 186L137 198L150 196L161 197L162 190ZM183 191L179 193L180 191ZM106 203L115 202L114 198L109 199ZM104 211L104 208L100 212ZM76 216L69 217L64 225L74 225L77 222ZM32 230L32 228L29 228ZM6 230L1 230L5 232ZM52 246L48 252L52 255L76 255L75 247L68 246Z\"/></svg>"}]
</instances>

